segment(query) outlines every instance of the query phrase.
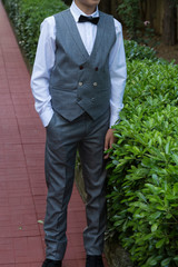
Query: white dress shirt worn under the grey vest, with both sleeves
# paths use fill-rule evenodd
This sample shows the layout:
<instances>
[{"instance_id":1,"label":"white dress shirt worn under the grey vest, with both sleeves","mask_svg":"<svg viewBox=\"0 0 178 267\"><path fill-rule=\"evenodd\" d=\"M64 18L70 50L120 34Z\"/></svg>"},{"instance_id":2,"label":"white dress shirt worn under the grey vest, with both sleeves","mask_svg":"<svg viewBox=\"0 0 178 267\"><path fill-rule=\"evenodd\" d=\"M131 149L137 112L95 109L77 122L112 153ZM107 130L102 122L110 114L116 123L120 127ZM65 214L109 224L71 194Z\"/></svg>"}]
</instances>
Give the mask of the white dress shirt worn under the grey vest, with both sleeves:
<instances>
[{"instance_id":1,"label":"white dress shirt worn under the grey vest, with both sleeves","mask_svg":"<svg viewBox=\"0 0 178 267\"><path fill-rule=\"evenodd\" d=\"M75 18L82 42L88 53L91 55L97 33L97 26L90 22L78 22L80 14L87 14L76 6L75 1L70 7L70 11ZM98 9L91 16L98 17ZM122 97L127 77L122 29L120 22L116 19L115 28L117 39L109 55L109 71L111 79L110 127L119 119L119 111L123 108ZM43 126L47 127L53 115L50 101L51 96L49 92L49 79L51 69L55 65L56 52L56 21L53 16L44 19L41 23L40 31L31 77L31 88L34 97L36 110L39 113Z\"/></svg>"}]
</instances>

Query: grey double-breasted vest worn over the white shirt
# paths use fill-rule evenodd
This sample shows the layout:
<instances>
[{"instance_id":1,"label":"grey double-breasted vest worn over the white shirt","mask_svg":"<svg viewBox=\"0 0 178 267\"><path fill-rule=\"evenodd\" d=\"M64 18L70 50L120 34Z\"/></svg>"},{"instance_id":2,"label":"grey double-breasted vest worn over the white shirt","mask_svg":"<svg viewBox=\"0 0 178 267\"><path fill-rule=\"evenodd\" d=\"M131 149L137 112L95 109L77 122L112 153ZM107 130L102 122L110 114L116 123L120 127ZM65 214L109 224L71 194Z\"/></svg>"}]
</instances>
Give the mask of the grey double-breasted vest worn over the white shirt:
<instances>
[{"instance_id":1,"label":"grey double-breasted vest worn over the white shirt","mask_svg":"<svg viewBox=\"0 0 178 267\"><path fill-rule=\"evenodd\" d=\"M116 41L113 18L100 12L90 56L70 10L55 14L55 19L57 50L49 86L52 108L69 121L85 111L97 119L109 108L109 52Z\"/></svg>"}]
</instances>

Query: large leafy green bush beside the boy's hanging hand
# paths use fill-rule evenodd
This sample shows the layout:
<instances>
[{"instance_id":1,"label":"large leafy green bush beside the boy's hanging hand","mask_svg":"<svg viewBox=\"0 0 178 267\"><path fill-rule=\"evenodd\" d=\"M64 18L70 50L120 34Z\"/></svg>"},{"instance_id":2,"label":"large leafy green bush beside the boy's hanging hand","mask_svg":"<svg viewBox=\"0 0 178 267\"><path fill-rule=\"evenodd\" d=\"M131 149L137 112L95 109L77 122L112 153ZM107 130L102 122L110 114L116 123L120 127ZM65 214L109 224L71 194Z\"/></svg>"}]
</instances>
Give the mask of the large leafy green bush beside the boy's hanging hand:
<instances>
[{"instance_id":1,"label":"large leafy green bush beside the boy's hanging hand","mask_svg":"<svg viewBox=\"0 0 178 267\"><path fill-rule=\"evenodd\" d=\"M128 62L116 136L107 167L108 236L138 266L178 266L178 66Z\"/></svg>"}]
</instances>

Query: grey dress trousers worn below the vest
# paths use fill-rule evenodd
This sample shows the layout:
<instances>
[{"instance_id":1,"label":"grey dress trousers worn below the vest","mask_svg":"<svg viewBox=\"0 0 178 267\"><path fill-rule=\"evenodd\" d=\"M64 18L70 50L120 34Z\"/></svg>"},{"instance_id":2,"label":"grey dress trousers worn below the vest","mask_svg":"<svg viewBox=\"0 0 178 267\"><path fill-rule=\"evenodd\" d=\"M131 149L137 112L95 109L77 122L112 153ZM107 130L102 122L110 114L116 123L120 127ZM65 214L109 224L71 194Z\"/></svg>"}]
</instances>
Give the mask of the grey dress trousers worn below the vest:
<instances>
[{"instance_id":1,"label":"grey dress trousers worn below the vest","mask_svg":"<svg viewBox=\"0 0 178 267\"><path fill-rule=\"evenodd\" d=\"M106 228L105 136L109 126L109 110L92 120L83 113L69 122L53 115L47 127L46 180L48 187L44 219L46 257L61 260L67 246L67 208L70 200L76 152L79 149L87 192L87 228L83 243L88 255L101 255Z\"/></svg>"}]
</instances>

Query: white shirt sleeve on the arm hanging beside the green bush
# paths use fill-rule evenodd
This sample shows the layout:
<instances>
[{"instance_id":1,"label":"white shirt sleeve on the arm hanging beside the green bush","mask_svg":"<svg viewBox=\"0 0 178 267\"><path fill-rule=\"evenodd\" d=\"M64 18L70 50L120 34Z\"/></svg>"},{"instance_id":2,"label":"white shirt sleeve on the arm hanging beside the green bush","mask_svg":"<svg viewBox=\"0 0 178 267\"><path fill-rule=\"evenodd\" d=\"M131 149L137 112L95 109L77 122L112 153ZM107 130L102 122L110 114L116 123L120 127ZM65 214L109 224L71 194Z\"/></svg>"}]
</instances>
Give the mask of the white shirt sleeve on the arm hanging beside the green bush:
<instances>
[{"instance_id":1,"label":"white shirt sleeve on the arm hanging beside the green bush","mask_svg":"<svg viewBox=\"0 0 178 267\"><path fill-rule=\"evenodd\" d=\"M115 19L116 43L109 56L109 71L111 80L110 97L110 127L119 119L119 112L123 108L122 98L127 78L126 55L123 47L122 27Z\"/></svg>"}]
</instances>

